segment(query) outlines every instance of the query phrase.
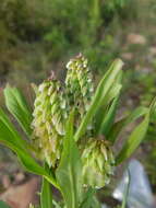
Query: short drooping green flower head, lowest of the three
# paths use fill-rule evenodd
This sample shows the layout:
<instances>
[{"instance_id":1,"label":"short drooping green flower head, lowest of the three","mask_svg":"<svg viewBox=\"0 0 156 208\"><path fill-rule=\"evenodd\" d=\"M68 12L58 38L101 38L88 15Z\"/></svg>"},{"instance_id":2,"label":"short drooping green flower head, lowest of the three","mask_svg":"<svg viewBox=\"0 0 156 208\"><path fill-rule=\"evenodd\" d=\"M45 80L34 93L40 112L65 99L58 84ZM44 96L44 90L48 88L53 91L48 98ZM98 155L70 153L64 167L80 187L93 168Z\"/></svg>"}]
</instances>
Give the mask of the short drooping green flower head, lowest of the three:
<instances>
[{"instance_id":1,"label":"short drooping green flower head, lowest of the three","mask_svg":"<svg viewBox=\"0 0 156 208\"><path fill-rule=\"evenodd\" d=\"M86 186L101 188L108 184L115 165L108 141L91 138L82 152L82 163L83 181Z\"/></svg>"}]
</instances>

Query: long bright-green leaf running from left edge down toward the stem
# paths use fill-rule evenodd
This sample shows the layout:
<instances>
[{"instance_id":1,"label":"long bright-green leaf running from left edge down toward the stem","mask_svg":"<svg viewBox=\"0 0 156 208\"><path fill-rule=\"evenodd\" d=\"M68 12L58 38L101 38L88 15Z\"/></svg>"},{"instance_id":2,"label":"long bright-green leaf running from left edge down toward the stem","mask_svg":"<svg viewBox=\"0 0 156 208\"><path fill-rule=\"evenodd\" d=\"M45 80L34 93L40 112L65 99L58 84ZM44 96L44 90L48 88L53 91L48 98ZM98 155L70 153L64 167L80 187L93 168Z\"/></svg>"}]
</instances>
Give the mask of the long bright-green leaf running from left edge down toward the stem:
<instances>
[{"instance_id":1,"label":"long bright-green leaf running from left edge down toward the stem","mask_svg":"<svg viewBox=\"0 0 156 208\"><path fill-rule=\"evenodd\" d=\"M32 147L21 138L14 126L10 123L8 116L0 108L0 142L14 151L22 165L28 171L37 175L45 176L51 184L59 187L56 180L45 171L32 157Z\"/></svg>"}]
</instances>

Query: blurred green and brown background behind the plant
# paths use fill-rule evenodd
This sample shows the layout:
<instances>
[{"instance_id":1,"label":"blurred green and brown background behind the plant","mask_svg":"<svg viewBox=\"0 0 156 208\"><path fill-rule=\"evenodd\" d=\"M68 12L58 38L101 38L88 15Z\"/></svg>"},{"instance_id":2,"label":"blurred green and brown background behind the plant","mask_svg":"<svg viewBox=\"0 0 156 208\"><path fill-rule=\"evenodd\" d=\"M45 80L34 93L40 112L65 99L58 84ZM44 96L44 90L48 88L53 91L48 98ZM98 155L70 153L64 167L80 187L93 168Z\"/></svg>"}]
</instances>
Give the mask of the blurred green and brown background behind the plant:
<instances>
[{"instance_id":1,"label":"blurred green and brown background behind the plant","mask_svg":"<svg viewBox=\"0 0 156 208\"><path fill-rule=\"evenodd\" d=\"M41 82L51 70L63 79L67 61L80 51L88 58L95 80L115 58L124 61L120 115L139 104L147 106L156 95L156 1L0 0L0 105L8 82L22 88L32 102L29 83ZM155 120L134 158L143 164L155 195ZM26 174L3 147L0 184L1 197L12 207L26 207L26 201L17 207L16 196L36 200L38 177Z\"/></svg>"}]
</instances>

